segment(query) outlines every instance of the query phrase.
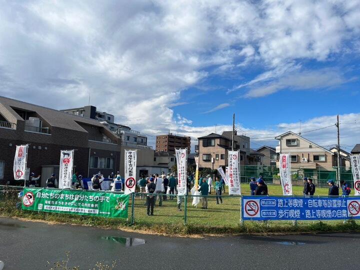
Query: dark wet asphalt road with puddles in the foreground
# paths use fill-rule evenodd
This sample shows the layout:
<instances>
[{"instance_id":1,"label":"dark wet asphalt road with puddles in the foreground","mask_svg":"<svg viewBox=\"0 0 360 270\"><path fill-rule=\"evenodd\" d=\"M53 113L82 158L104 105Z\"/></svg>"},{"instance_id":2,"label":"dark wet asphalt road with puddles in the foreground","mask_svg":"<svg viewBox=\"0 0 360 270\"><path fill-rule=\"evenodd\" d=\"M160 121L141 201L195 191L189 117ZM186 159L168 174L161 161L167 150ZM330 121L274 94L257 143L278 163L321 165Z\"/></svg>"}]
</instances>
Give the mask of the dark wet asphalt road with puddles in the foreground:
<instances>
[{"instance_id":1,"label":"dark wet asphalt road with puddles in the foreground","mask_svg":"<svg viewBox=\"0 0 360 270\"><path fill-rule=\"evenodd\" d=\"M80 269L99 260L117 260L115 269L360 268L357 233L177 238L0 218L4 270L49 269L65 251Z\"/></svg>"}]
</instances>

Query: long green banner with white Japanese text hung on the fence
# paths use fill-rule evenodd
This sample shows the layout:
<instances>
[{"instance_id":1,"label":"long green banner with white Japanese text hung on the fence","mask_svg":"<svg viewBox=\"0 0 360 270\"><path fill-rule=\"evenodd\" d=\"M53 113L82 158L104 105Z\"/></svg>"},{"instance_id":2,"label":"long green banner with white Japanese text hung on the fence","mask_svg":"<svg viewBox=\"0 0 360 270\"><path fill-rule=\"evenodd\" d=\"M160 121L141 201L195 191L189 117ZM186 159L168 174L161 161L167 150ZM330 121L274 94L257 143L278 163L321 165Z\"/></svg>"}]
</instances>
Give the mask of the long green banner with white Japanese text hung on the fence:
<instances>
[{"instance_id":1,"label":"long green banner with white Japanese text hung on the fence","mask_svg":"<svg viewBox=\"0 0 360 270\"><path fill-rule=\"evenodd\" d=\"M24 188L24 210L127 218L129 195L101 191Z\"/></svg>"}]
</instances>

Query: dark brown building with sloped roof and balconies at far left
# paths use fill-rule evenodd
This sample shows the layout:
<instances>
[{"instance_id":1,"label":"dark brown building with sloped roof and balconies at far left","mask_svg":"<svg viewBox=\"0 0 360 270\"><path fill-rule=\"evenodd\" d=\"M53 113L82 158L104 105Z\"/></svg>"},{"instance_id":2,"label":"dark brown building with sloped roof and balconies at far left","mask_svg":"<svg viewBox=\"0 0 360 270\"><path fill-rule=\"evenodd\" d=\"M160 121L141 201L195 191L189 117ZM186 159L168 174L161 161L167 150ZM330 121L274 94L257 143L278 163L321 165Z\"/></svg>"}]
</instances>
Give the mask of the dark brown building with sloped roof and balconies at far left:
<instances>
[{"instance_id":1,"label":"dark brown building with sloped roof and balconies at far left","mask_svg":"<svg viewBox=\"0 0 360 270\"><path fill-rule=\"evenodd\" d=\"M74 170L84 177L119 170L121 139L99 121L0 96L0 182L13 183L16 145L29 144L27 167L41 185L58 175L60 150L75 149Z\"/></svg>"}]
</instances>

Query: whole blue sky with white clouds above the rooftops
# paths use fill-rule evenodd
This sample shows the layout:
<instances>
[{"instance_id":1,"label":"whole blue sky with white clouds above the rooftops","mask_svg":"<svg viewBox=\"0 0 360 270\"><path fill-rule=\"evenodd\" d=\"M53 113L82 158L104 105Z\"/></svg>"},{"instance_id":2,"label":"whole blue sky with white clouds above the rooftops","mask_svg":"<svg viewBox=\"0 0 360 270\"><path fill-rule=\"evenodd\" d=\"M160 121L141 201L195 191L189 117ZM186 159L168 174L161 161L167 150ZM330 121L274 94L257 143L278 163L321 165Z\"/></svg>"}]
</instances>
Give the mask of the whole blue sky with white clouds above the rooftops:
<instances>
[{"instance_id":1,"label":"whole blue sky with white clouds above the rooftops","mask_svg":"<svg viewBox=\"0 0 360 270\"><path fill-rule=\"evenodd\" d=\"M331 147L336 114L341 147L360 143L358 0L0 3L0 95L55 109L90 96L152 146L231 130L232 113L252 148L288 130Z\"/></svg>"}]
</instances>

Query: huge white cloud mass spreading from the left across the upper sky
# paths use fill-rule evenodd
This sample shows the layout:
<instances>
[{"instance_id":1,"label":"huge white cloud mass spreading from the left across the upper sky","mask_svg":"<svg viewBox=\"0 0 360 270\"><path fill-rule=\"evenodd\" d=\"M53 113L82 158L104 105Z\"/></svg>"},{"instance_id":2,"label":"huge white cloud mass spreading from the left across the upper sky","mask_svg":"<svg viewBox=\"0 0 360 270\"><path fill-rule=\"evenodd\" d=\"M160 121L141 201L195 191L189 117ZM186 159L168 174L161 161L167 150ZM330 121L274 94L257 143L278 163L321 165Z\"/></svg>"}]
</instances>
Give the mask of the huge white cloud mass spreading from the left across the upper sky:
<instances>
[{"instance_id":1,"label":"huge white cloud mass spreading from the left across the upper sky","mask_svg":"<svg viewBox=\"0 0 360 270\"><path fill-rule=\"evenodd\" d=\"M344 42L352 50L359 12L356 0L10 1L0 9L0 94L60 109L90 93L135 129L180 130L191 119L171 108L209 70L241 77L261 66L234 87L248 96L318 87L302 60L326 61Z\"/></svg>"}]
</instances>

